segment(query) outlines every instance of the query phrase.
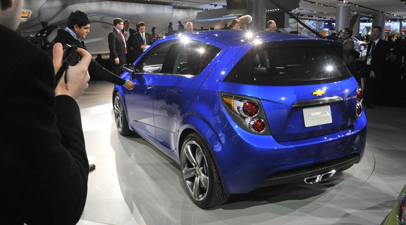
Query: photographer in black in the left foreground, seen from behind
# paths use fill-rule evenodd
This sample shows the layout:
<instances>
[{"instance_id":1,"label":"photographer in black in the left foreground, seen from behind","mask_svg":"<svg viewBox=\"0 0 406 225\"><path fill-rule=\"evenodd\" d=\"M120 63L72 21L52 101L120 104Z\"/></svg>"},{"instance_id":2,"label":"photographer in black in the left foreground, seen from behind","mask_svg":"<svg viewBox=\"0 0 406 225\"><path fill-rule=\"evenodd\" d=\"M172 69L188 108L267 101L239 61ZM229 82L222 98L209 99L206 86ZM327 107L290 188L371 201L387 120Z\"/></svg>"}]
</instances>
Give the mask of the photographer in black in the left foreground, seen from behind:
<instances>
[{"instance_id":1,"label":"photographer in black in the left foreground, seen from behind","mask_svg":"<svg viewBox=\"0 0 406 225\"><path fill-rule=\"evenodd\" d=\"M55 44L52 62L15 32L23 2L0 1L0 221L73 225L85 206L89 174L75 99L88 87L92 56L78 49L81 61L55 87L62 45Z\"/></svg>"}]
</instances>

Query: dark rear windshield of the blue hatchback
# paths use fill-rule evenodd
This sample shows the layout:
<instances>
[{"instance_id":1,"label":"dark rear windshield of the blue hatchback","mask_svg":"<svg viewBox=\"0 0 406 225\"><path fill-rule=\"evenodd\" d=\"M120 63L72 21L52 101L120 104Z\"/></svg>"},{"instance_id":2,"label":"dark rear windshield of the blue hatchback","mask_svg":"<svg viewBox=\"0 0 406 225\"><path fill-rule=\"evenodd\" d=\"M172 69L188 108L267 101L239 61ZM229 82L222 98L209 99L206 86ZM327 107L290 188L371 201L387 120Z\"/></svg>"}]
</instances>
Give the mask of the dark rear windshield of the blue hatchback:
<instances>
[{"instance_id":1,"label":"dark rear windshield of the blue hatchback","mask_svg":"<svg viewBox=\"0 0 406 225\"><path fill-rule=\"evenodd\" d=\"M254 45L224 81L266 86L335 82L351 76L341 48L326 41Z\"/></svg>"}]
</instances>

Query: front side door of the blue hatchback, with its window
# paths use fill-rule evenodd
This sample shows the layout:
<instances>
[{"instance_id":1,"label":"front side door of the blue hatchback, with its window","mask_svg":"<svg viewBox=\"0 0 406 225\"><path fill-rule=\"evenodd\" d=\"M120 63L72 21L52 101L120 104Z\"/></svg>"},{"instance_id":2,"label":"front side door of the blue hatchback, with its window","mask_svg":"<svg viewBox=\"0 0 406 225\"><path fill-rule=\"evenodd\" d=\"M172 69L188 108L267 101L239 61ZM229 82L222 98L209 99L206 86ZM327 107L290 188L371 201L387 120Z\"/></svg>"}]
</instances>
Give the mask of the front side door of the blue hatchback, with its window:
<instances>
[{"instance_id":1,"label":"front side door of the blue hatchback, with its window","mask_svg":"<svg viewBox=\"0 0 406 225\"><path fill-rule=\"evenodd\" d=\"M155 139L153 100L157 93L153 88L168 55L172 41L165 41L150 49L135 64L131 75L134 90L126 92L128 121L130 126L148 138Z\"/></svg>"}]
</instances>

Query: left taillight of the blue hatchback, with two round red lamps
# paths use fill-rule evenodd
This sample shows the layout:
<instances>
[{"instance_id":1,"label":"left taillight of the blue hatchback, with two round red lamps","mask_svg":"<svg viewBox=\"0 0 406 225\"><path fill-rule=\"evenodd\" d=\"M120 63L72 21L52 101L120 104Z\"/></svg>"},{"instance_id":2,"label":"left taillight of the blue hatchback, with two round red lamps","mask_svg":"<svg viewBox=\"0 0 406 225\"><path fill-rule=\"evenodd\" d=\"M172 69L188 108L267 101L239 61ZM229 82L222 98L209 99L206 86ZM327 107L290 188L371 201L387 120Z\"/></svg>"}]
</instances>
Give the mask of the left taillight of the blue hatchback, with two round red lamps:
<instances>
[{"instance_id":1,"label":"left taillight of the blue hatchback, with two round red lamps","mask_svg":"<svg viewBox=\"0 0 406 225\"><path fill-rule=\"evenodd\" d=\"M258 99L224 94L221 94L221 98L229 114L241 128L252 133L270 134L266 131L267 121Z\"/></svg>"}]
</instances>

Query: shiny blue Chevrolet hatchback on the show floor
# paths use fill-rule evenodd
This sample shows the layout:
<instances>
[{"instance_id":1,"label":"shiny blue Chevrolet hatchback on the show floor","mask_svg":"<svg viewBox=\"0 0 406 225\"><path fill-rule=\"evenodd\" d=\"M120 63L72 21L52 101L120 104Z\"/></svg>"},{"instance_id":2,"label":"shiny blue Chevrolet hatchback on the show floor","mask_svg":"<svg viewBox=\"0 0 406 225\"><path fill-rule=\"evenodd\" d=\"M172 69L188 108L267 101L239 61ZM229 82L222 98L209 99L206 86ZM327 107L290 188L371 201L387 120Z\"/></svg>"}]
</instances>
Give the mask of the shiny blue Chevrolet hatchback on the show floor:
<instances>
[{"instance_id":1,"label":"shiny blue Chevrolet hatchback on the show floor","mask_svg":"<svg viewBox=\"0 0 406 225\"><path fill-rule=\"evenodd\" d=\"M180 165L199 207L281 183L313 184L364 154L362 90L337 41L206 31L153 44L113 90L118 132L134 131Z\"/></svg>"}]
</instances>

